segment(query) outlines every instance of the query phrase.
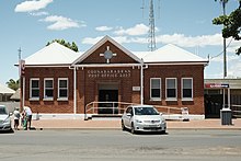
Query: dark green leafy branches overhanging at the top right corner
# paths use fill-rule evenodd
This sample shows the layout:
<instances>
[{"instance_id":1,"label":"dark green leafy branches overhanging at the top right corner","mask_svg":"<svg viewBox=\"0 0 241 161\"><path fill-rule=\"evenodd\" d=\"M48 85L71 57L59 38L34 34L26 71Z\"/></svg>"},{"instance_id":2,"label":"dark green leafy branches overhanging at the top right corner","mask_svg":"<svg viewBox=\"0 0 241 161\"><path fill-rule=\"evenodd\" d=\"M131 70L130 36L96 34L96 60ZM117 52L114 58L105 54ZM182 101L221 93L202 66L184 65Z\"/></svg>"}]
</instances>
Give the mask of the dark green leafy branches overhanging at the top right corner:
<instances>
[{"instance_id":1,"label":"dark green leafy branches overhanging at the top right corner","mask_svg":"<svg viewBox=\"0 0 241 161\"><path fill-rule=\"evenodd\" d=\"M215 0L217 1L217 0ZM220 0L220 2L225 5L228 0ZM216 25L223 25L222 28L222 37L228 38L232 37L236 41L241 39L240 31L241 31L241 0L239 0L239 8L232 11L229 15L220 15L213 20L213 23ZM241 46L236 50L237 55L241 54Z\"/></svg>"}]
</instances>

